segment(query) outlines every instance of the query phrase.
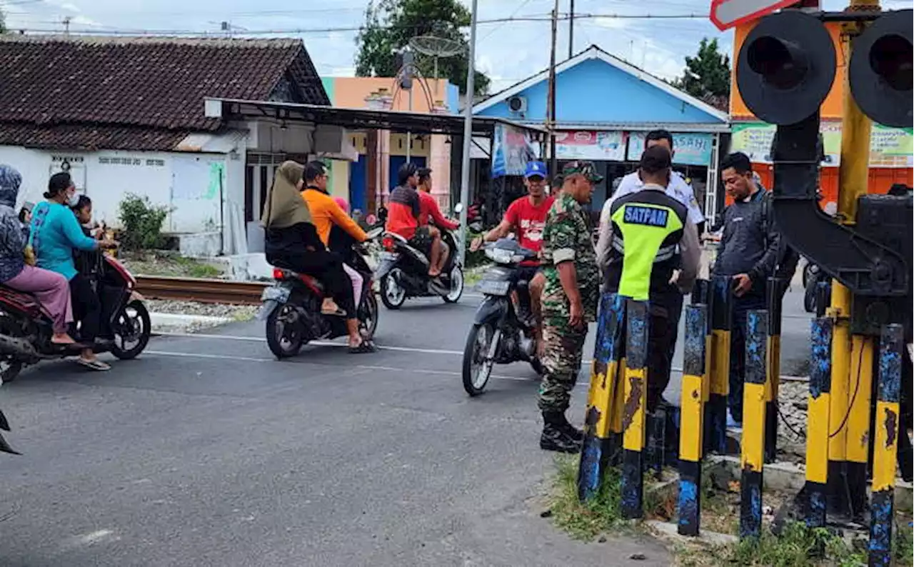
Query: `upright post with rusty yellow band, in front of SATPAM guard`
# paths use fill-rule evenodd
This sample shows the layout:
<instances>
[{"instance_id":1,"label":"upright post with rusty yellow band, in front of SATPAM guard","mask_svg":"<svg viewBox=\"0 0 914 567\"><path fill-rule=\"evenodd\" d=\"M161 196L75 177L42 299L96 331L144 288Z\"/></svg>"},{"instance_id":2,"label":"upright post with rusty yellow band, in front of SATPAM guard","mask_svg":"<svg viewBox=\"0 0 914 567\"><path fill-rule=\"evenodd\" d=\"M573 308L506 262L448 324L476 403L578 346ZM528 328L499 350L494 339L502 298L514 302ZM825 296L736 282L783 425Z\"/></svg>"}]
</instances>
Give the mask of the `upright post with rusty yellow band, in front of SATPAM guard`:
<instances>
[{"instance_id":1,"label":"upright post with rusty yellow band, in front of SATPAM guard","mask_svg":"<svg viewBox=\"0 0 914 567\"><path fill-rule=\"evenodd\" d=\"M644 433L647 416L646 301L628 300L625 311L625 403L622 408L622 518L643 516Z\"/></svg>"}]
</instances>

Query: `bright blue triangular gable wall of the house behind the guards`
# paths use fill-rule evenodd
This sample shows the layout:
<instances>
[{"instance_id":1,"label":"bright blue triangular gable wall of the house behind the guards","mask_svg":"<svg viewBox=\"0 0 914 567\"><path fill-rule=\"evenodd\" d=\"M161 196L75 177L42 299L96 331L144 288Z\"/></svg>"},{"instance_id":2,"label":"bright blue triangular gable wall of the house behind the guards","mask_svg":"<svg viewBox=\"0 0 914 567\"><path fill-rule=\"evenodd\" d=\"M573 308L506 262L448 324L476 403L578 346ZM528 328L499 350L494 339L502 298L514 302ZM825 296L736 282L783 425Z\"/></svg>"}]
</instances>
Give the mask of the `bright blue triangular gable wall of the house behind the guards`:
<instances>
[{"instance_id":1,"label":"bright blue triangular gable wall of the house behind the guards","mask_svg":"<svg viewBox=\"0 0 914 567\"><path fill-rule=\"evenodd\" d=\"M547 85L543 80L521 91L527 112L519 116L502 101L477 112L526 122L545 122ZM588 59L558 74L558 123L720 123L717 117L686 104L650 83L601 59Z\"/></svg>"}]
</instances>

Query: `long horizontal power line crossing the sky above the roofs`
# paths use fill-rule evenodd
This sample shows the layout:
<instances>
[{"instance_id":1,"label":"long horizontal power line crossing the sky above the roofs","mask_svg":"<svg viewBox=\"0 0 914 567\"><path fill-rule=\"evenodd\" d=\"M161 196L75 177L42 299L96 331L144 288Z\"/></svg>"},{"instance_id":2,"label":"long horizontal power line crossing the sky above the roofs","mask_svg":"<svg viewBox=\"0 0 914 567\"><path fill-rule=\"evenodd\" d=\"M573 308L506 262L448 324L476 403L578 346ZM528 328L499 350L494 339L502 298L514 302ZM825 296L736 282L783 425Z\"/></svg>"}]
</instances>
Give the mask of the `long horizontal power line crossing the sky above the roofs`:
<instances>
[{"instance_id":1,"label":"long horizontal power line crossing the sky above the roofs","mask_svg":"<svg viewBox=\"0 0 914 567\"><path fill-rule=\"evenodd\" d=\"M558 21L566 21L569 19L569 15L559 15ZM705 19L707 20L707 14L576 14L575 19L631 19L631 20L669 20L669 19ZM499 17L492 18L487 20L479 20L478 24L488 25L488 24L505 24L508 22L549 22L551 18L544 16L512 16L512 17ZM318 34L318 33L335 33L335 32L359 32L365 31L368 29L425 29L429 27L430 22L425 22L422 25L416 26L340 26L340 27L299 27L299 28L288 28L288 29L262 29L262 30L250 30L244 32L246 36L291 36L291 35L305 35L305 34ZM461 26L466 27L466 26ZM59 29L37 29L37 28L21 28L22 31L28 33L41 33L41 34L53 34L59 33ZM94 34L94 35L122 35L122 36L204 36L212 34L213 32L200 31L200 30L191 30L191 29L112 29L112 30L100 30L100 29L71 29L71 34Z\"/></svg>"}]
</instances>

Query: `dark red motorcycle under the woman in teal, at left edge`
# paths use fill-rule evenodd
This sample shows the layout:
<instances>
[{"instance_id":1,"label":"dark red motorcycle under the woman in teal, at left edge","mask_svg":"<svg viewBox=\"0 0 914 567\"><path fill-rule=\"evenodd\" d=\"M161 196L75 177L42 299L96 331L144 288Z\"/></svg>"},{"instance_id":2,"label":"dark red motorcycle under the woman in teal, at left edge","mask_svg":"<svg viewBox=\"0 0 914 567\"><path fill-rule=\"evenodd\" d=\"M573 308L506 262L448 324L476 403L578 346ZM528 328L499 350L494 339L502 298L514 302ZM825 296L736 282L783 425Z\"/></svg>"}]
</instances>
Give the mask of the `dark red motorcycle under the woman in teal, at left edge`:
<instances>
[{"instance_id":1,"label":"dark red motorcycle under the woman in teal, at left edge","mask_svg":"<svg viewBox=\"0 0 914 567\"><path fill-rule=\"evenodd\" d=\"M111 352L117 358L136 358L149 343L152 323L136 292L136 279L121 262L101 254L97 279L102 317L106 317L113 340L93 346L95 352ZM10 382L23 366L41 360L80 354L80 345L51 343L50 317L32 294L0 285L0 380Z\"/></svg>"}]
</instances>

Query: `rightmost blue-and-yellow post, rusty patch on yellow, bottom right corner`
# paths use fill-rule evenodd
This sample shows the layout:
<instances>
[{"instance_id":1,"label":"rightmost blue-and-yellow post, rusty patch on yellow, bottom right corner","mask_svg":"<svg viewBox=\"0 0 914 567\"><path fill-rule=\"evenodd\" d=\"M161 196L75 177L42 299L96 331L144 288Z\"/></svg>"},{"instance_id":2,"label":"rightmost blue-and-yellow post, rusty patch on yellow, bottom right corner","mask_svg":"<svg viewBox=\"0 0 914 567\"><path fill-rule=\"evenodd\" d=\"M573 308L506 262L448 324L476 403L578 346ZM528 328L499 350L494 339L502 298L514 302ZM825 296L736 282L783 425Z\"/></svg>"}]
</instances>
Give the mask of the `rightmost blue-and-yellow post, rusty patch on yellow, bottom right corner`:
<instances>
[{"instance_id":1,"label":"rightmost blue-and-yellow post, rusty patch on yellow, bottom right corner","mask_svg":"<svg viewBox=\"0 0 914 567\"><path fill-rule=\"evenodd\" d=\"M876 443L873 445L873 489L870 501L869 564L892 562L892 518L895 508L895 467L898 458L901 357L904 328L882 327L879 341L879 396L876 402Z\"/></svg>"}]
</instances>

